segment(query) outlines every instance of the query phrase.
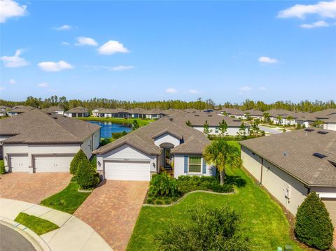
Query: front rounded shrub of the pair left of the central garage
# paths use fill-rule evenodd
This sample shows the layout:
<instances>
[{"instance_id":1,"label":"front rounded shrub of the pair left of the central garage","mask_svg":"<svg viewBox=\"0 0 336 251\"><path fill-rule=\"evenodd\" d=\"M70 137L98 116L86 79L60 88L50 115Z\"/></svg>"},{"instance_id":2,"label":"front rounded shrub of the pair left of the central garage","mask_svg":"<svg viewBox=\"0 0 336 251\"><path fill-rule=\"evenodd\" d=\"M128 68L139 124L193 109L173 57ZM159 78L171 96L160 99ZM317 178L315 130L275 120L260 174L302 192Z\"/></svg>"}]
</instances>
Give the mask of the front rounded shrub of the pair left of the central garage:
<instances>
[{"instance_id":1,"label":"front rounded shrub of the pair left of the central garage","mask_svg":"<svg viewBox=\"0 0 336 251\"><path fill-rule=\"evenodd\" d=\"M77 173L77 182L80 188L90 189L99 184L99 174L94 171L92 164L86 159L79 163Z\"/></svg>"}]
</instances>

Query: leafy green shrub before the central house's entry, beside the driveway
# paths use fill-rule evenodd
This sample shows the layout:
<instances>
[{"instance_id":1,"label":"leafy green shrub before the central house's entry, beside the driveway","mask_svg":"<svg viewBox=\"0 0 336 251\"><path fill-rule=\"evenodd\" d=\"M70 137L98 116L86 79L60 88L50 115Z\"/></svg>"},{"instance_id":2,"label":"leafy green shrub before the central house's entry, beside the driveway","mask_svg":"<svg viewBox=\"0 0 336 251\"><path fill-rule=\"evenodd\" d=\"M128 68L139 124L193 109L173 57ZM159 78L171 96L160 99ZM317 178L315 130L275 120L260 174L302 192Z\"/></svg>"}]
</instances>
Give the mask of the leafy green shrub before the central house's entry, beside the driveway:
<instances>
[{"instance_id":1,"label":"leafy green shrub before the central house's entry, beside the driveway","mask_svg":"<svg viewBox=\"0 0 336 251\"><path fill-rule=\"evenodd\" d=\"M148 189L148 197L158 198L160 196L178 195L177 181L167 173L153 175Z\"/></svg>"}]
</instances>

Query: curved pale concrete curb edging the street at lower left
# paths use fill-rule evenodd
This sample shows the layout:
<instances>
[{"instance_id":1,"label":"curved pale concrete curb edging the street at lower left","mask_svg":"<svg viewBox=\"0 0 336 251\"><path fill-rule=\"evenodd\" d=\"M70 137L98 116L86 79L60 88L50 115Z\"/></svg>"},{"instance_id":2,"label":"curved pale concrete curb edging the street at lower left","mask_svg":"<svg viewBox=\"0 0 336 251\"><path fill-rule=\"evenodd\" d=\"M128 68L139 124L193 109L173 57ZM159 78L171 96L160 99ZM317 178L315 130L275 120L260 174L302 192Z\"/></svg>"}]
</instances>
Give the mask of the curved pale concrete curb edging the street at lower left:
<instances>
[{"instance_id":1,"label":"curved pale concrete curb edging the street at lower left","mask_svg":"<svg viewBox=\"0 0 336 251\"><path fill-rule=\"evenodd\" d=\"M31 245L36 249L36 251L51 251L50 247L48 246L43 239L38 236L34 231L31 229L25 227L24 225L14 222L13 220L9 220L7 218L3 218L0 220L0 224L3 224L3 226L9 227L10 229L13 229L14 231L18 232L18 234L22 235L26 238Z\"/></svg>"}]
</instances>

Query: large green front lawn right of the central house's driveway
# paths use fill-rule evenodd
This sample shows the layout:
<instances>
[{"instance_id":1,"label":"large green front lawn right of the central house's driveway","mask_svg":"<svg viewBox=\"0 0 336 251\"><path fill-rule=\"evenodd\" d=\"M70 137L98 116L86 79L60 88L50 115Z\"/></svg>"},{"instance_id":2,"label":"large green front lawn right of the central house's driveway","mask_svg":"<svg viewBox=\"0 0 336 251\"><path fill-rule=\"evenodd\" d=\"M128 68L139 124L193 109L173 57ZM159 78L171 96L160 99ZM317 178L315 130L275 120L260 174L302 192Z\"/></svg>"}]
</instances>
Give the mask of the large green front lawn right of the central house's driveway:
<instances>
[{"instance_id":1,"label":"large green front lawn right of the central house's driveway","mask_svg":"<svg viewBox=\"0 0 336 251\"><path fill-rule=\"evenodd\" d=\"M235 141L230 143L239 145ZM255 185L243 169L227 170L227 173L232 180L246 180L245 185L237 187L237 194L195 193L189 194L181 203L169 208L142 208L127 250L160 250L153 242L155 233L168 228L172 222L188 224L190 208L203 208L205 211L207 208L223 206L235 208L241 215L244 235L251 238L253 250L276 250L278 246L284 245L293 245L294 250L302 250L290 239L290 227L280 206Z\"/></svg>"}]
</instances>

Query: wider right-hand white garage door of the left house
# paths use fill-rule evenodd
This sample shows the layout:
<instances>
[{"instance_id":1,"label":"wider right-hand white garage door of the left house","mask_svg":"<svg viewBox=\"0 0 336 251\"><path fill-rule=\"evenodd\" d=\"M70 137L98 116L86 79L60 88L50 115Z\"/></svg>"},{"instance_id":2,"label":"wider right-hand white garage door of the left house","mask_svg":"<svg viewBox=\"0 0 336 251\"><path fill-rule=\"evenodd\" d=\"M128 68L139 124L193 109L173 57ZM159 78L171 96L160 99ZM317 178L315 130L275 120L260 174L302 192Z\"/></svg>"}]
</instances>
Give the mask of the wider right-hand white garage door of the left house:
<instances>
[{"instance_id":1,"label":"wider right-hand white garage door of the left house","mask_svg":"<svg viewBox=\"0 0 336 251\"><path fill-rule=\"evenodd\" d=\"M34 167L36 173L67 173L73 157L34 157Z\"/></svg>"}]
</instances>

